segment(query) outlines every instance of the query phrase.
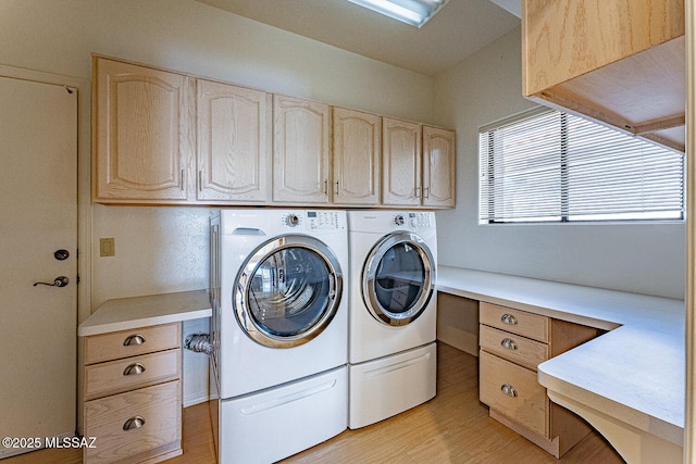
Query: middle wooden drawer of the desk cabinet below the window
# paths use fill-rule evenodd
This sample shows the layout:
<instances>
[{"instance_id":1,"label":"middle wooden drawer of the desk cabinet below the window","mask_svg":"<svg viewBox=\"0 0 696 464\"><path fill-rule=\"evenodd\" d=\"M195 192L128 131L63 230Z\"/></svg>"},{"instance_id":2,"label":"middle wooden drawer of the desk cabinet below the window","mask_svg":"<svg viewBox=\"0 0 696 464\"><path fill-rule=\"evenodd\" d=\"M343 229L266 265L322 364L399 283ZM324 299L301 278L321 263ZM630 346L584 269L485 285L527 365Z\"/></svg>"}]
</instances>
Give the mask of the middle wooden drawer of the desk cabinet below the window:
<instances>
[{"instance_id":1,"label":"middle wooden drawer of the desk cabinet below the window","mask_svg":"<svg viewBox=\"0 0 696 464\"><path fill-rule=\"evenodd\" d=\"M478 342L482 350L534 371L539 363L548 360L548 344L483 324L478 330Z\"/></svg>"}]
</instances>

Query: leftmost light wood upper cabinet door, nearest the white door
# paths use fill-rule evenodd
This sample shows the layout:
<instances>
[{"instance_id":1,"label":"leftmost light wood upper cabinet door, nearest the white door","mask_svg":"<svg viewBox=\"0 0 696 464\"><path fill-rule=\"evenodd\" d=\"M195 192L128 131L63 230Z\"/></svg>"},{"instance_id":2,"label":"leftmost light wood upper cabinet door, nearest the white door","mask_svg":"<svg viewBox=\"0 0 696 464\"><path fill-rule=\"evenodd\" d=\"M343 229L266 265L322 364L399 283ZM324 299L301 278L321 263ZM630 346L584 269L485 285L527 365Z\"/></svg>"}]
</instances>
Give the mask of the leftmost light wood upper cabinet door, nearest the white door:
<instances>
[{"instance_id":1,"label":"leftmost light wood upper cabinet door, nearest the white door","mask_svg":"<svg viewBox=\"0 0 696 464\"><path fill-rule=\"evenodd\" d=\"M189 78L95 60L94 198L124 203L190 199Z\"/></svg>"}]
</instances>

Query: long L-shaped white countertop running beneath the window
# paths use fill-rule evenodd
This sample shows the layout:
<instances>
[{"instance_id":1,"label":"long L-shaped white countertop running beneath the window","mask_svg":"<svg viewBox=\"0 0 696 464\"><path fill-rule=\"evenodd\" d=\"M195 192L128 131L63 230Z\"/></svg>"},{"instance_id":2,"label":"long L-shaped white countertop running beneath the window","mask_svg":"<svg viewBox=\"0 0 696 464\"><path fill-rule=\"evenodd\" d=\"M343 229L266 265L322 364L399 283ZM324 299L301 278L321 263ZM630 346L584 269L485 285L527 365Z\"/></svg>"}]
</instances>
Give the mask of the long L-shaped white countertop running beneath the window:
<instances>
[{"instance_id":1,"label":"long L-shaped white countertop running beneath the window","mask_svg":"<svg viewBox=\"0 0 696 464\"><path fill-rule=\"evenodd\" d=\"M684 301L450 266L437 289L611 330L539 364L539 383L683 444Z\"/></svg>"}]
</instances>

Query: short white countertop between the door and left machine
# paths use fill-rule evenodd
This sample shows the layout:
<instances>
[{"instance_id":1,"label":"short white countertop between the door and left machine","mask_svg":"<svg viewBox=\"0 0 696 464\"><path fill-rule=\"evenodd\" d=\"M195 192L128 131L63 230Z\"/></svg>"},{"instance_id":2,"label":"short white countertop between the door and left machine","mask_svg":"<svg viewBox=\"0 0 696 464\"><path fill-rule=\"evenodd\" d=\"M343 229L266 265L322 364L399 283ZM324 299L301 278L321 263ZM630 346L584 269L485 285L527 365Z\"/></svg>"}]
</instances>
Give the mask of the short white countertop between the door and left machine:
<instances>
[{"instance_id":1,"label":"short white countertop between the door and left machine","mask_svg":"<svg viewBox=\"0 0 696 464\"><path fill-rule=\"evenodd\" d=\"M77 327L80 337L210 317L206 290L108 300Z\"/></svg>"}]
</instances>

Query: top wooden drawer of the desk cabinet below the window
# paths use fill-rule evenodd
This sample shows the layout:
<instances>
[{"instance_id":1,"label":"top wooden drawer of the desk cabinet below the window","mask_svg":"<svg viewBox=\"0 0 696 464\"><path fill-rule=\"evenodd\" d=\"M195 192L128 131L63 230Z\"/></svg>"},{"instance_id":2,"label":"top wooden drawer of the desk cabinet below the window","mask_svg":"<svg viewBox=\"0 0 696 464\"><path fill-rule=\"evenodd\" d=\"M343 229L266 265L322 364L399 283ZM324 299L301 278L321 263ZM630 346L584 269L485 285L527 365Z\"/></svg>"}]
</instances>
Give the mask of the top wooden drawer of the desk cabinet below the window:
<instances>
[{"instance_id":1,"label":"top wooden drawer of the desk cabinet below the window","mask_svg":"<svg viewBox=\"0 0 696 464\"><path fill-rule=\"evenodd\" d=\"M546 316L482 301L478 322L526 338L548 342L549 318Z\"/></svg>"}]
</instances>

